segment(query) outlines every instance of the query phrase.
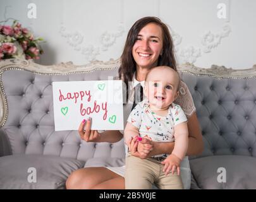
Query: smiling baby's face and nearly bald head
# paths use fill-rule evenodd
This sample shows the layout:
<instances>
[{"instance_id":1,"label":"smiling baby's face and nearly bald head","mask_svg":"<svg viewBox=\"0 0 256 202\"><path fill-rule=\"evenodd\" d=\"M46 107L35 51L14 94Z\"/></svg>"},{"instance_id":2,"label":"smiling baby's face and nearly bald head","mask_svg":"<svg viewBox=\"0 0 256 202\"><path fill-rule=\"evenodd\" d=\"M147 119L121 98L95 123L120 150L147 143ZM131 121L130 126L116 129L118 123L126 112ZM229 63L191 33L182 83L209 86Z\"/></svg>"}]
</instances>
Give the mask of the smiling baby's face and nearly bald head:
<instances>
[{"instance_id":1,"label":"smiling baby's face and nearly bald head","mask_svg":"<svg viewBox=\"0 0 256 202\"><path fill-rule=\"evenodd\" d=\"M178 96L179 78L172 69L152 69L145 82L145 96L150 107L168 109Z\"/></svg>"}]
</instances>

